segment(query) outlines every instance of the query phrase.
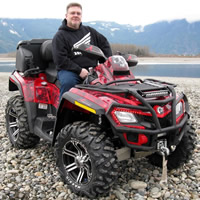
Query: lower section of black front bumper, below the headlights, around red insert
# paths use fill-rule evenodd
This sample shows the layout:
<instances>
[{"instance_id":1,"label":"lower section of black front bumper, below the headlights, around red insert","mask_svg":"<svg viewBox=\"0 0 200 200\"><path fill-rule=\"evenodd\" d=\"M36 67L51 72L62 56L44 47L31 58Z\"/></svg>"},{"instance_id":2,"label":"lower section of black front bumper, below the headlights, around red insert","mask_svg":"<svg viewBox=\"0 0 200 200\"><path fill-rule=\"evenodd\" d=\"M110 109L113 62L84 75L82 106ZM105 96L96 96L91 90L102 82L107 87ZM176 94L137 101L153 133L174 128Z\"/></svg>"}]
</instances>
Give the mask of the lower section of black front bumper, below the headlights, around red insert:
<instances>
[{"instance_id":1,"label":"lower section of black front bumper, below the headlights, around red insert","mask_svg":"<svg viewBox=\"0 0 200 200\"><path fill-rule=\"evenodd\" d=\"M123 144L132 149L142 151L156 150L160 140L167 139L168 146L177 145L184 135L189 115L185 114L179 124L156 130L133 129L113 126L113 132L118 135Z\"/></svg>"}]
</instances>

